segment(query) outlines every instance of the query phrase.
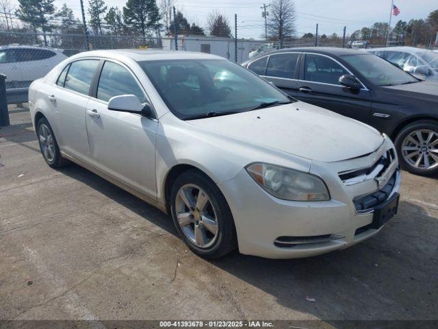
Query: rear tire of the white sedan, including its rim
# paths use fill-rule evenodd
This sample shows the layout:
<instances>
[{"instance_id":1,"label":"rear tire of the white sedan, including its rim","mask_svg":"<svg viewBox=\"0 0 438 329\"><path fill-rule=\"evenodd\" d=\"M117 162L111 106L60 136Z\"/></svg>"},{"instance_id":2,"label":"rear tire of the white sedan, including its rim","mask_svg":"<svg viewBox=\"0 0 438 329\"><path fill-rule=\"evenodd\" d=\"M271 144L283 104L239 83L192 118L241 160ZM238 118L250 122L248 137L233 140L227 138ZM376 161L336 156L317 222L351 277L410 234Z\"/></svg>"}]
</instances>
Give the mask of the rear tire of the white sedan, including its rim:
<instances>
[{"instance_id":1,"label":"rear tire of the white sedan, including its rim","mask_svg":"<svg viewBox=\"0 0 438 329\"><path fill-rule=\"evenodd\" d=\"M62 158L60 147L57 145L55 134L46 118L42 117L36 124L36 134L41 154L47 164L53 169L64 167L68 160Z\"/></svg>"}]
</instances>

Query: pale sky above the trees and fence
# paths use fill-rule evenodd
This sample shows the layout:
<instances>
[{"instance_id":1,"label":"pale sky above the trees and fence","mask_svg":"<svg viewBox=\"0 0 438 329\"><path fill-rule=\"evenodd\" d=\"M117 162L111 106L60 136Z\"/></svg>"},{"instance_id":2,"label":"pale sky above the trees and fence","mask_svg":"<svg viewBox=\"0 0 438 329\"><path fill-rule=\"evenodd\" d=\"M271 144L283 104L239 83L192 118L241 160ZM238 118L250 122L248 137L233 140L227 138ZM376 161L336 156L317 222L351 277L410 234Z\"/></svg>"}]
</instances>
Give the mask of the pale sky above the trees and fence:
<instances>
[{"instance_id":1,"label":"pale sky above the trees and fence","mask_svg":"<svg viewBox=\"0 0 438 329\"><path fill-rule=\"evenodd\" d=\"M14 0L16 1L16 0ZM161 0L157 0L159 4ZM60 8L66 2L72 8L77 17L80 17L79 0L55 0L55 5ZM106 0L110 8L118 6L123 8L125 0ZM268 4L270 0L265 0ZM296 30L300 33L315 33L315 24L320 25L320 34L342 35L344 25L347 34L360 29L363 26L371 26L374 22L387 22L389 20L390 0L295 0ZM206 25L207 14L211 10L221 12L229 19L234 29L234 14L237 14L237 36L239 38L261 38L264 33L263 18L261 17L261 5L263 0L176 0L177 10L181 10L189 19L201 26ZM84 0L86 10L88 0ZM393 16L395 22L402 19L426 19L429 12L438 9L438 0L395 0L395 5L400 9L400 14Z\"/></svg>"}]
</instances>

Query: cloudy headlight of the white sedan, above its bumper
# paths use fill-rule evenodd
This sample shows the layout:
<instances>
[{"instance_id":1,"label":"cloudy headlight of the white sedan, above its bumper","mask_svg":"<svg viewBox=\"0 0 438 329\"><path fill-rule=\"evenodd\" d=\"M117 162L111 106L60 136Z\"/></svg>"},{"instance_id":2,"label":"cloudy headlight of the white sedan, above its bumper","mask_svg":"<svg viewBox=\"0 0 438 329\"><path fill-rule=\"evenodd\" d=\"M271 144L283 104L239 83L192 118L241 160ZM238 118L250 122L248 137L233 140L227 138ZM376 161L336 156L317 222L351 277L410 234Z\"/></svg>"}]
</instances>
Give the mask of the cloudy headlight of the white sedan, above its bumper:
<instances>
[{"instance_id":1,"label":"cloudy headlight of the white sedan, above its bumper","mask_svg":"<svg viewBox=\"0 0 438 329\"><path fill-rule=\"evenodd\" d=\"M246 171L274 197L293 201L330 199L326 184L315 175L266 163L250 164Z\"/></svg>"}]
</instances>

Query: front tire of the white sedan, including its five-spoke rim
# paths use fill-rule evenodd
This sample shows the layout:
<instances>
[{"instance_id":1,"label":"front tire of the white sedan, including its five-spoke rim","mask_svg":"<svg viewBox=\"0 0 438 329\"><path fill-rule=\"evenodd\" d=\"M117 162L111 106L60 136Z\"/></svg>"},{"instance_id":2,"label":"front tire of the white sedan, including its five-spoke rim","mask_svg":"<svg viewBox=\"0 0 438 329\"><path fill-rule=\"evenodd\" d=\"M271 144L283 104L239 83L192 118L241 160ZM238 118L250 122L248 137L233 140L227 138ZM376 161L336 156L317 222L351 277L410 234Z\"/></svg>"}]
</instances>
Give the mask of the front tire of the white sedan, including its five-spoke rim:
<instances>
[{"instance_id":1,"label":"front tire of the white sedan, including its five-spoke rim","mask_svg":"<svg viewBox=\"0 0 438 329\"><path fill-rule=\"evenodd\" d=\"M219 258L237 247L231 210L218 186L197 170L179 175L170 192L175 228L199 256Z\"/></svg>"}]
</instances>

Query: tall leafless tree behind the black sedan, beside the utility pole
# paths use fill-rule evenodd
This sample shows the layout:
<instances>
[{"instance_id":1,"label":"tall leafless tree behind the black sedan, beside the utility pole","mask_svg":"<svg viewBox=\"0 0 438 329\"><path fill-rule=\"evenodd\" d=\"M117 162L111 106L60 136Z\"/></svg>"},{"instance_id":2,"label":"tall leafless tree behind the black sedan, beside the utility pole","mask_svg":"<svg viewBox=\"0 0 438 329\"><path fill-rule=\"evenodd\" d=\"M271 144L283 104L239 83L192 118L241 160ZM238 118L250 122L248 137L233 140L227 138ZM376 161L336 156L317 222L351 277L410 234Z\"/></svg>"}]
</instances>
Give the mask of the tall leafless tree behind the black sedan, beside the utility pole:
<instances>
[{"instance_id":1,"label":"tall leafless tree behind the black sedan, beside the utility pole","mask_svg":"<svg viewBox=\"0 0 438 329\"><path fill-rule=\"evenodd\" d=\"M295 3L293 0L273 0L270 3L268 32L272 39L280 41L283 47L285 38L295 33Z\"/></svg>"}]
</instances>

